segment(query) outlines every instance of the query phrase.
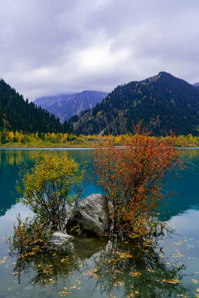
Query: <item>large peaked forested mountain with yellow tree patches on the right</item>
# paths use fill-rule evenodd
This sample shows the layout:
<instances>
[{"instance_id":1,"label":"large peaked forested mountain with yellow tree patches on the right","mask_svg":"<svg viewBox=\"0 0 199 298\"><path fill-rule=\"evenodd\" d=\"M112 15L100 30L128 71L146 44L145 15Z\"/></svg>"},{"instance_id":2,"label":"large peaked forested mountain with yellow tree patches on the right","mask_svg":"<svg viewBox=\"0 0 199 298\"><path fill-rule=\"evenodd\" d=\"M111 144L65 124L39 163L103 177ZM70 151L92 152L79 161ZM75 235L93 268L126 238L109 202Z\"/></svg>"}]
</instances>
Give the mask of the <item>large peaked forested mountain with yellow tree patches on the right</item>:
<instances>
[{"instance_id":1,"label":"large peaked forested mountain with yellow tree patches on the right","mask_svg":"<svg viewBox=\"0 0 199 298\"><path fill-rule=\"evenodd\" d=\"M78 133L123 134L133 124L143 125L160 136L199 135L199 88L183 79L160 72L142 81L118 85L91 111L71 118Z\"/></svg>"}]
</instances>

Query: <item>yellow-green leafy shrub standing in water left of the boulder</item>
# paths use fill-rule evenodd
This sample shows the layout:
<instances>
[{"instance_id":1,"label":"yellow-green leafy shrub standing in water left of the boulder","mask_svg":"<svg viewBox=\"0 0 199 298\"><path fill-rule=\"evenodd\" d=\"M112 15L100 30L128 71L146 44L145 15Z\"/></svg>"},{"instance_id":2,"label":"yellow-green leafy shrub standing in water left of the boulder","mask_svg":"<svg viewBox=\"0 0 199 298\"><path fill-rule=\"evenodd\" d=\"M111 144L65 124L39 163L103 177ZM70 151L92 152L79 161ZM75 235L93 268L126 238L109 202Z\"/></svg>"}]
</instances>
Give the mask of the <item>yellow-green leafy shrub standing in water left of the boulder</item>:
<instances>
[{"instance_id":1,"label":"yellow-green leafy shrub standing in water left of the boulder","mask_svg":"<svg viewBox=\"0 0 199 298\"><path fill-rule=\"evenodd\" d=\"M85 168L64 152L38 151L33 168L25 163L19 170L17 191L44 227L62 229L78 206L85 185Z\"/></svg>"}]
</instances>

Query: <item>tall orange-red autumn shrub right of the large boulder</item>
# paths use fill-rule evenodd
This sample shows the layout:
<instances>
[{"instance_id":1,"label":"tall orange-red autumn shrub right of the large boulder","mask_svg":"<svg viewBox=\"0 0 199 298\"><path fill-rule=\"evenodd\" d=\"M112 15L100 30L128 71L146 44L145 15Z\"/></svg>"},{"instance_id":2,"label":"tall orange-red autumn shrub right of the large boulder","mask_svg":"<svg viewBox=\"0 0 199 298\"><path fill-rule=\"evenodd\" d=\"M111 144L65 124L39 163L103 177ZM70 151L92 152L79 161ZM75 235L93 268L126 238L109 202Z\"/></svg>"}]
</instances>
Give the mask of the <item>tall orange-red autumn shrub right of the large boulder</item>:
<instances>
[{"instance_id":1,"label":"tall orange-red autumn shrub right of the large boulder","mask_svg":"<svg viewBox=\"0 0 199 298\"><path fill-rule=\"evenodd\" d=\"M174 143L174 136L150 137L140 123L134 136L122 137L121 147L109 137L94 149L97 183L107 194L114 228L142 233L155 218L171 195L163 195L163 185L184 168L183 149L176 150Z\"/></svg>"}]
</instances>

